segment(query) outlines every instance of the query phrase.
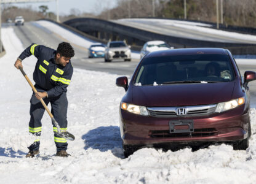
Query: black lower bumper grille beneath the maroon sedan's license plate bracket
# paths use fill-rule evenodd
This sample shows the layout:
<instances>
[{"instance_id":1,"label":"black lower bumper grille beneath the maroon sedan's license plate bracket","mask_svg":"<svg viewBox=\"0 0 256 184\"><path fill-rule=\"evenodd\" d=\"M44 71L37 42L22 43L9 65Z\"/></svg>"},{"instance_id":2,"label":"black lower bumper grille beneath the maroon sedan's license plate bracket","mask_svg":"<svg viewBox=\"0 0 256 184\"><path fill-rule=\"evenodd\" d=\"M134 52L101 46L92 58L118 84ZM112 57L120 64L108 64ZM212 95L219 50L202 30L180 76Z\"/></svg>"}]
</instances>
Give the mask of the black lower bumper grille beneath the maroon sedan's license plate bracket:
<instances>
[{"instance_id":1,"label":"black lower bumper grille beneath the maroon sedan's license plate bracket","mask_svg":"<svg viewBox=\"0 0 256 184\"><path fill-rule=\"evenodd\" d=\"M216 136L218 131L215 128L201 128L194 129L192 133L174 133L170 134L169 130L162 131L150 131L150 137L152 138L162 138L162 137L207 137Z\"/></svg>"}]
</instances>

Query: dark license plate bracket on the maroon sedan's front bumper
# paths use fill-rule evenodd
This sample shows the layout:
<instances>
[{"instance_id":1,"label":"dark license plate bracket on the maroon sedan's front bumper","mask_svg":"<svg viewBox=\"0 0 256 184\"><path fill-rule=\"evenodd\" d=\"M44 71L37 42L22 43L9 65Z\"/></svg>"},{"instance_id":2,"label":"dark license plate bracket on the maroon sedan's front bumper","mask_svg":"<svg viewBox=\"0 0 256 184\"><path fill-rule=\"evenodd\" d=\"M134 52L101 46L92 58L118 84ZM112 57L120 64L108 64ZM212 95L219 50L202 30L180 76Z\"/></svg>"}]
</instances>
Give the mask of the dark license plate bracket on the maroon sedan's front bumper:
<instances>
[{"instance_id":1,"label":"dark license plate bracket on the maroon sedan's front bumper","mask_svg":"<svg viewBox=\"0 0 256 184\"><path fill-rule=\"evenodd\" d=\"M194 132L193 120L170 120L170 134L174 133L191 133Z\"/></svg>"}]
</instances>

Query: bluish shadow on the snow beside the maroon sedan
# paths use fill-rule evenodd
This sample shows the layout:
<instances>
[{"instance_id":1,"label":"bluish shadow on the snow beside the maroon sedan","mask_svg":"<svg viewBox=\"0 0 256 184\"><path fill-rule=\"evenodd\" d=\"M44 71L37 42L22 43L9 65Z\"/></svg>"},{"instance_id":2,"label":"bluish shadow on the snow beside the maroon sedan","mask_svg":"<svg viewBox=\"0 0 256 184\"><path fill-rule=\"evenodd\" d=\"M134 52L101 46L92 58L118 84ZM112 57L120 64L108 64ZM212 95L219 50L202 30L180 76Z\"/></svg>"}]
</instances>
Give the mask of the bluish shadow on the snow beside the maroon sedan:
<instances>
[{"instance_id":1,"label":"bluish shadow on the snow beside the maroon sedan","mask_svg":"<svg viewBox=\"0 0 256 184\"><path fill-rule=\"evenodd\" d=\"M84 134L82 139L86 145L84 147L85 150L88 148L97 149L102 152L111 150L114 156L124 157L118 126L100 126Z\"/></svg>"}]
</instances>

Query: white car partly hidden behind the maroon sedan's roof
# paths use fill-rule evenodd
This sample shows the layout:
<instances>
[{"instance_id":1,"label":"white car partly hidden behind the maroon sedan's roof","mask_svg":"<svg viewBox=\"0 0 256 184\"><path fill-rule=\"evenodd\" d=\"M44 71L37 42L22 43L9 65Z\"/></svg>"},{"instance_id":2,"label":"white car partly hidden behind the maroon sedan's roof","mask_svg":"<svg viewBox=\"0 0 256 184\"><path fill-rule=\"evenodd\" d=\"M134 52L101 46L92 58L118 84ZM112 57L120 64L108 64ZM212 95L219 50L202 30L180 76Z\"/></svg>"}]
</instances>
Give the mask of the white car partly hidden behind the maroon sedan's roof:
<instances>
[{"instance_id":1,"label":"white car partly hidden behind the maroon sedan's roof","mask_svg":"<svg viewBox=\"0 0 256 184\"><path fill-rule=\"evenodd\" d=\"M154 40L146 42L142 50L140 50L140 58L143 58L147 53L157 51L157 50L167 50L167 49L174 49L174 47L170 47L170 45L166 44L166 42L161 40Z\"/></svg>"}]
</instances>

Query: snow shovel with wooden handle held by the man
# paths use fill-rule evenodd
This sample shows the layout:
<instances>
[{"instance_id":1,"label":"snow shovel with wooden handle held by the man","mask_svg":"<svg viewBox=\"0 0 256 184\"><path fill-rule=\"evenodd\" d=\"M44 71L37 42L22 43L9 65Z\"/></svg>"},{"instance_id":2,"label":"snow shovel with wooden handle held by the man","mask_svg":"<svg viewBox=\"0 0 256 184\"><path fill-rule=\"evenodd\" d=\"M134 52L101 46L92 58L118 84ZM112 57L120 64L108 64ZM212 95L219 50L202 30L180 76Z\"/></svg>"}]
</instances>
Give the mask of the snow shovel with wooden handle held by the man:
<instances>
[{"instance_id":1,"label":"snow shovel with wooden handle held by the man","mask_svg":"<svg viewBox=\"0 0 256 184\"><path fill-rule=\"evenodd\" d=\"M30 79L28 79L28 76L26 76L26 73L23 71L22 67L19 66L18 69L20 69L20 71L24 75L24 77L26 78L26 81L30 84L34 93L38 93L38 90L36 90L36 88L34 88L33 84L31 83ZM44 100L41 98L40 101L41 101L42 105L44 106L44 109L46 109L47 113L49 114L50 118L52 119L52 122L57 127L57 133L56 133L57 136L60 136L60 137L65 138L67 140L74 140L74 136L72 134L70 134L70 132L62 132L60 130L60 126L58 125L58 122L54 119L54 115L52 115L52 113L48 109Z\"/></svg>"}]
</instances>

